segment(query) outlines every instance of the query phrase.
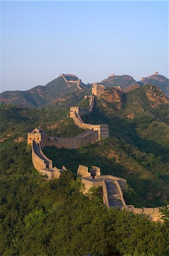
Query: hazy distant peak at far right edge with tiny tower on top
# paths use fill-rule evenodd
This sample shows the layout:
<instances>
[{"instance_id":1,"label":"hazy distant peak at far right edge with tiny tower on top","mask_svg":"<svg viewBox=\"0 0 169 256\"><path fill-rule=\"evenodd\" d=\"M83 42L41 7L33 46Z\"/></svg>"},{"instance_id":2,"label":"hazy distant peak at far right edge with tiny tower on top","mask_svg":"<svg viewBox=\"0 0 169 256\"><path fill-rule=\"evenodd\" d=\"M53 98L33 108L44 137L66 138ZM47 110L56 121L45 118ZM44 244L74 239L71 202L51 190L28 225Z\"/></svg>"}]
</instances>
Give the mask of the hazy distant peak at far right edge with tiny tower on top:
<instances>
[{"instance_id":1,"label":"hazy distant peak at far right edge with tiny tower on top","mask_svg":"<svg viewBox=\"0 0 169 256\"><path fill-rule=\"evenodd\" d=\"M166 94L166 96L169 98L169 80L165 76L158 75L158 73L156 75L154 73L154 75L151 75L148 77L142 77L139 84L140 85L145 85L145 84L157 85L158 88L160 88Z\"/></svg>"}]
</instances>

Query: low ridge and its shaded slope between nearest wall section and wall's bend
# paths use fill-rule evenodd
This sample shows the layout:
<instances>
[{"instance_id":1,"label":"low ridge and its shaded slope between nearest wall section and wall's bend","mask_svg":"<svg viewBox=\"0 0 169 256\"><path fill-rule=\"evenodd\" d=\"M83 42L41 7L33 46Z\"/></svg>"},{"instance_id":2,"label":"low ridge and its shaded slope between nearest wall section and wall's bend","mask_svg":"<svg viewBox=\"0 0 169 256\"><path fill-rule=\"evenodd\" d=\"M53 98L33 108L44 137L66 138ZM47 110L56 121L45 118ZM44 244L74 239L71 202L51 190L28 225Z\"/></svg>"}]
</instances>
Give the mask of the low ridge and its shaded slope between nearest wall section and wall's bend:
<instances>
[{"instance_id":1,"label":"low ridge and its shaded slope between nearest wall section and wall's bend","mask_svg":"<svg viewBox=\"0 0 169 256\"><path fill-rule=\"evenodd\" d=\"M44 152L59 168L66 163L66 167L76 173L81 163L99 166L102 174L124 177L132 189L125 193L125 200L135 207L161 206L168 196L168 164L121 139L108 138L78 150L45 147Z\"/></svg>"}]
</instances>

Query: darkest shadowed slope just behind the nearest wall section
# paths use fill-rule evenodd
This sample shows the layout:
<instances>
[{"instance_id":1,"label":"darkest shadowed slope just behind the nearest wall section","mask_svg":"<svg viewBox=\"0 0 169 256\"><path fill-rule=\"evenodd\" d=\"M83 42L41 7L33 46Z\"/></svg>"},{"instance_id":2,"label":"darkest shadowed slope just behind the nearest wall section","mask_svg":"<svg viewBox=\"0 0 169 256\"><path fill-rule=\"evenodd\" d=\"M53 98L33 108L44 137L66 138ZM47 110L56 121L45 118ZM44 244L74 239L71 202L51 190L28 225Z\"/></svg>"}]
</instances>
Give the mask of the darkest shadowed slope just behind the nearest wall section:
<instances>
[{"instance_id":1,"label":"darkest shadowed slope just behind the nearest wall section","mask_svg":"<svg viewBox=\"0 0 169 256\"><path fill-rule=\"evenodd\" d=\"M149 198L150 194L156 195L159 189L165 191L166 188L163 186L163 181L140 179L139 172L130 172L125 166L116 163L114 159L105 158L105 156L99 154L97 151L98 148L99 144L97 143L78 150L52 146L45 147L44 153L53 161L54 166L61 168L62 164L64 164L64 166L68 170L73 171L74 174L77 174L78 166L82 164L87 166L89 170L92 165L99 166L102 175L110 174L123 177L132 188L131 194L125 193L127 204L134 204L135 207L158 207L163 205L161 196L152 196L152 198Z\"/></svg>"}]
</instances>

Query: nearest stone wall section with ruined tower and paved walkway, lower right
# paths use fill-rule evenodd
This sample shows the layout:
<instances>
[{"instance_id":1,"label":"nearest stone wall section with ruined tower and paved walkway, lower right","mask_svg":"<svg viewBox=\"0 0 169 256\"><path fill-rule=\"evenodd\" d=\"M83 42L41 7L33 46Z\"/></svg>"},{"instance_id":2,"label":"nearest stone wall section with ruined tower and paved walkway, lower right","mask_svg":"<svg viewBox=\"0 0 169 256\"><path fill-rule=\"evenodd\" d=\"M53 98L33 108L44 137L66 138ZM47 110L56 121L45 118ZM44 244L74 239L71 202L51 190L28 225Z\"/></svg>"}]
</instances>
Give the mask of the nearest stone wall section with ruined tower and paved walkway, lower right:
<instances>
[{"instance_id":1,"label":"nearest stone wall section with ruined tower and paved walkway, lower right","mask_svg":"<svg viewBox=\"0 0 169 256\"><path fill-rule=\"evenodd\" d=\"M84 194L88 193L92 187L101 186L103 188L103 202L108 208L119 207L120 209L125 209L134 214L145 214L151 221L163 222L161 219L162 213L160 213L162 207L135 208L134 205L126 205L122 193L122 188L126 188L127 185L125 179L112 175L93 176L92 171L88 172L88 168L81 165L79 165L77 174L81 177L82 183L84 184ZM169 207L169 205L167 205L167 207Z\"/></svg>"}]
</instances>

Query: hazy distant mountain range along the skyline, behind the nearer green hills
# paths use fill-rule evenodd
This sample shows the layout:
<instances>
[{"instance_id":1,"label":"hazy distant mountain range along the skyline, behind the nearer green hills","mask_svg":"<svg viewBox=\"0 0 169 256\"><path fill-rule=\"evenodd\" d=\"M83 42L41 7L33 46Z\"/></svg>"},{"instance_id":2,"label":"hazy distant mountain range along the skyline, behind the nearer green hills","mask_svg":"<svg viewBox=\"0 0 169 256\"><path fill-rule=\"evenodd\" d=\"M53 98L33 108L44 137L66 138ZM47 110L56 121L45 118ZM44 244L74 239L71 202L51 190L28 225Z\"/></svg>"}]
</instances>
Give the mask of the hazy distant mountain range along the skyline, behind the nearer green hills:
<instances>
[{"instance_id":1,"label":"hazy distant mountain range along the skyline, behind the nearer green hills","mask_svg":"<svg viewBox=\"0 0 169 256\"><path fill-rule=\"evenodd\" d=\"M151 75L144 77L137 82L132 76L110 75L98 84L106 87L121 89L122 92L140 88L145 84L157 85L167 97L169 97L168 79L164 76ZM6 91L0 94L0 103L14 104L27 107L48 107L57 105L69 107L82 100L84 94L91 94L92 84L83 84L77 76L71 74L62 74L57 79L52 80L47 85L35 86L27 91Z\"/></svg>"}]
</instances>

